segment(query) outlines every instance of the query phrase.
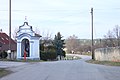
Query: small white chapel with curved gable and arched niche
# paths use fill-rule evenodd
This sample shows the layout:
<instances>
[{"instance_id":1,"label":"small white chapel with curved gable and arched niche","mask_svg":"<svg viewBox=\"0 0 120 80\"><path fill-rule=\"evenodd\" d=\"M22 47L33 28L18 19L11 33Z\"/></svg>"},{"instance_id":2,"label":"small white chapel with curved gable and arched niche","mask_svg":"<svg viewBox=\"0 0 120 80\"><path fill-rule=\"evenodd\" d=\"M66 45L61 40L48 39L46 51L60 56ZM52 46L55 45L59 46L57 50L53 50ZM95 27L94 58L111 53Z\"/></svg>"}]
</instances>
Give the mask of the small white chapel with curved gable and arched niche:
<instances>
[{"instance_id":1,"label":"small white chapel with curved gable and arched niche","mask_svg":"<svg viewBox=\"0 0 120 80\"><path fill-rule=\"evenodd\" d=\"M40 35L36 34L32 26L25 21L22 26L19 26L17 32L17 59L24 59L24 52L26 52L26 59L40 60Z\"/></svg>"}]
</instances>

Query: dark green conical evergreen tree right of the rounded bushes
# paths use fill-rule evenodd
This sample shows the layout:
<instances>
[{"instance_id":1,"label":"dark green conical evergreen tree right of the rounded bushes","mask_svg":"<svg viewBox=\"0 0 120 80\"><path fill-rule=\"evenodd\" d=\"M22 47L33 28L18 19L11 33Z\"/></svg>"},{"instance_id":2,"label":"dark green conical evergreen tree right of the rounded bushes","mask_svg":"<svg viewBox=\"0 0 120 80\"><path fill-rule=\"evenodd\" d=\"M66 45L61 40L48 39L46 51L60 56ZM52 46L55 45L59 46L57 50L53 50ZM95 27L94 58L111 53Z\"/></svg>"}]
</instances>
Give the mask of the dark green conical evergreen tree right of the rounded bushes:
<instances>
[{"instance_id":1,"label":"dark green conical evergreen tree right of the rounded bushes","mask_svg":"<svg viewBox=\"0 0 120 80\"><path fill-rule=\"evenodd\" d=\"M60 59L61 59L61 56L65 57L65 52L63 51L63 49L65 48L64 41L65 40L62 39L62 35L60 34L60 32L58 32L57 35L55 35L53 44L54 44L54 46L56 48L57 55L60 56Z\"/></svg>"}]
</instances>

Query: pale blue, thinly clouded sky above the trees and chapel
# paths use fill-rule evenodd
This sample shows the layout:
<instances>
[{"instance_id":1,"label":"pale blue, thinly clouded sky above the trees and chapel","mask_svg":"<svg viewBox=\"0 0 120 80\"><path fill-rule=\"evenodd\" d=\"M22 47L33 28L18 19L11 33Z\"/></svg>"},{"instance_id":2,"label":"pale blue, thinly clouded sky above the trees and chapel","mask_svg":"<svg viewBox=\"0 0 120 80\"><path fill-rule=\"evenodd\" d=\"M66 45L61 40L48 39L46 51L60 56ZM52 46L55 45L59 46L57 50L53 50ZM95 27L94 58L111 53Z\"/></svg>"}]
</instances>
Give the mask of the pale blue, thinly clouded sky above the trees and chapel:
<instances>
[{"instance_id":1,"label":"pale blue, thinly clouded sky above the trees and chapel","mask_svg":"<svg viewBox=\"0 0 120 80\"><path fill-rule=\"evenodd\" d=\"M0 0L0 28L9 33L9 0ZM91 7L94 8L94 38L103 36L120 24L119 0L12 0L12 34L24 23L38 28L41 35L61 32L91 38Z\"/></svg>"}]
</instances>

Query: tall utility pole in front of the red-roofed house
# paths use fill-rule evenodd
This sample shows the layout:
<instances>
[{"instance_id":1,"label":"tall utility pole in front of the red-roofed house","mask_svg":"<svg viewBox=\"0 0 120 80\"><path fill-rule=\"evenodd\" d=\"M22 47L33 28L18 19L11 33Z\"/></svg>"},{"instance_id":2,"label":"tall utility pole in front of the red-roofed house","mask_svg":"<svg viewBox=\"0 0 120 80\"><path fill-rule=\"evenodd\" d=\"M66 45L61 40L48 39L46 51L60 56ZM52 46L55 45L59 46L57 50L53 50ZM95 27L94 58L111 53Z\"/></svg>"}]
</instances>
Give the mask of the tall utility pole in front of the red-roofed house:
<instances>
[{"instance_id":1,"label":"tall utility pole in front of the red-roofed house","mask_svg":"<svg viewBox=\"0 0 120 80\"><path fill-rule=\"evenodd\" d=\"M9 55L11 59L11 0L9 0Z\"/></svg>"}]
</instances>

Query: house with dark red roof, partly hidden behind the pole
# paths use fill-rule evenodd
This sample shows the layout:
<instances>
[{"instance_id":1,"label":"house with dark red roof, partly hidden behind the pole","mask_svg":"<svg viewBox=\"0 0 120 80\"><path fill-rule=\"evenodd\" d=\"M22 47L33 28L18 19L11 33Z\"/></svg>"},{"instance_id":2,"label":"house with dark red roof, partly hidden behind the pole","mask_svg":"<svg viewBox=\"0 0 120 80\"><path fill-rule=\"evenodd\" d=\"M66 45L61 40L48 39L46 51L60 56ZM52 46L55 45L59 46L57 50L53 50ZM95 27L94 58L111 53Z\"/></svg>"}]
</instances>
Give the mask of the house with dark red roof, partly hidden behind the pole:
<instances>
[{"instance_id":1,"label":"house with dark red roof, partly hidden behind the pole","mask_svg":"<svg viewBox=\"0 0 120 80\"><path fill-rule=\"evenodd\" d=\"M15 58L17 51L17 43L11 38L11 47L9 48L9 36L0 30L0 51L8 52L11 49L11 53L8 54L8 58Z\"/></svg>"}]
</instances>

